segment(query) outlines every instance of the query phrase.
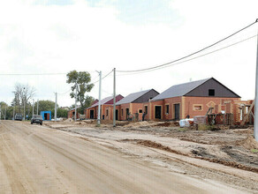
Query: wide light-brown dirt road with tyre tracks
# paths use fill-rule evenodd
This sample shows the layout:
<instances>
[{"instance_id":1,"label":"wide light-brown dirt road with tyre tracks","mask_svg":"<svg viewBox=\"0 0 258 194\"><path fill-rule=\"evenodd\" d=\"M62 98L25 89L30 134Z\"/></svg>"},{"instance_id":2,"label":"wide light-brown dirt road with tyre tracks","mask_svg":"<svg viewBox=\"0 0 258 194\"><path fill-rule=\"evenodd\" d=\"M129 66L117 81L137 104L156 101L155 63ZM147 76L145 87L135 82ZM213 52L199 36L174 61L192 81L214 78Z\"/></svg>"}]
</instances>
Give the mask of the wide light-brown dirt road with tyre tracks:
<instances>
[{"instance_id":1,"label":"wide light-brown dirt road with tyre tracks","mask_svg":"<svg viewBox=\"0 0 258 194\"><path fill-rule=\"evenodd\" d=\"M246 193L45 126L1 121L0 193Z\"/></svg>"}]
</instances>

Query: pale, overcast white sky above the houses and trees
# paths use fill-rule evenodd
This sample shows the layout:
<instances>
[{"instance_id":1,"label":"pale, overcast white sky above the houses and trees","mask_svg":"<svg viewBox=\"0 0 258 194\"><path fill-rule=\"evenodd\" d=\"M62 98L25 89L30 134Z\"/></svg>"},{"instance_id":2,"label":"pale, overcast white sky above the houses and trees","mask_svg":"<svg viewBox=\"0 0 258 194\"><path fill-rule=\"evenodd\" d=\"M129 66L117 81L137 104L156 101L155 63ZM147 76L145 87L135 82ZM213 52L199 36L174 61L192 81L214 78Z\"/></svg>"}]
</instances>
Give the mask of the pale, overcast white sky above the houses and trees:
<instances>
[{"instance_id":1,"label":"pale, overcast white sky above the houses and trees","mask_svg":"<svg viewBox=\"0 0 258 194\"><path fill-rule=\"evenodd\" d=\"M0 1L0 101L14 85L34 86L34 99L71 106L69 71L131 71L171 62L258 19L257 0L8 0ZM116 92L167 88L214 77L242 100L254 99L258 23L185 63L139 74L117 72ZM254 36L254 37L253 37ZM249 37L253 37L248 39ZM246 40L247 41L243 41ZM239 44L227 47L236 42ZM224 49L220 49L224 48ZM59 75L3 74L61 73ZM88 95L98 99L98 83ZM112 95L112 73L102 98Z\"/></svg>"}]
</instances>

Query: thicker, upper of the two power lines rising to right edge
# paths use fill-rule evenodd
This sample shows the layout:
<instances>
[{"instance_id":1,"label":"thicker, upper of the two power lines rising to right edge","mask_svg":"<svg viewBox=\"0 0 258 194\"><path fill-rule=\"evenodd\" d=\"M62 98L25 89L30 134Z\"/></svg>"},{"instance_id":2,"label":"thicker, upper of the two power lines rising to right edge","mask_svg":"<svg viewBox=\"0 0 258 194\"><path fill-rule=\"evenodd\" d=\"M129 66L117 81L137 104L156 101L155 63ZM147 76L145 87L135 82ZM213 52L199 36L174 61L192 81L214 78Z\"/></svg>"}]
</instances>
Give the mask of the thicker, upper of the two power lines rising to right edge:
<instances>
[{"instance_id":1,"label":"thicker, upper of the two power lines rising to right edge","mask_svg":"<svg viewBox=\"0 0 258 194\"><path fill-rule=\"evenodd\" d=\"M218 43L220 43L220 42L222 42L222 41L225 41L225 40L231 38L231 37L232 37L233 35L235 35L235 34L239 34L241 31L247 29L247 28L250 27L250 26L253 26L253 25L256 24L257 22L258 22L258 19L256 19L252 24L250 24L250 25L248 25L248 26L245 26L244 28L240 29L239 31L237 31L237 32L235 32L235 33L233 33L233 34L231 34L231 35L229 35L229 36L226 36L224 39L221 39L220 41L216 41L216 42L213 43L213 44L210 44L208 47L201 48L200 50L195 51L194 53L191 53L191 54L189 54L189 55L187 55L187 56L180 57L180 58L178 58L178 59L176 59L176 60L174 60L174 61L171 61L171 62L169 62L169 63L163 63L163 64L160 64L160 65L156 65L156 66L154 66L154 67L149 67L149 68L144 68L144 69L139 69L139 70L118 71L118 72L148 71L148 70L153 70L153 69L156 69L156 68L159 68L159 67L166 66L166 65L171 64L171 63L176 63L176 62L181 61L181 60L183 60L183 59L185 59L185 58L187 58L187 57L189 57L189 56L194 56L194 55L200 53L200 52L203 51L203 50L206 50L206 49L208 49L208 48L211 48L211 47L215 46L216 44L218 44Z\"/></svg>"}]
</instances>

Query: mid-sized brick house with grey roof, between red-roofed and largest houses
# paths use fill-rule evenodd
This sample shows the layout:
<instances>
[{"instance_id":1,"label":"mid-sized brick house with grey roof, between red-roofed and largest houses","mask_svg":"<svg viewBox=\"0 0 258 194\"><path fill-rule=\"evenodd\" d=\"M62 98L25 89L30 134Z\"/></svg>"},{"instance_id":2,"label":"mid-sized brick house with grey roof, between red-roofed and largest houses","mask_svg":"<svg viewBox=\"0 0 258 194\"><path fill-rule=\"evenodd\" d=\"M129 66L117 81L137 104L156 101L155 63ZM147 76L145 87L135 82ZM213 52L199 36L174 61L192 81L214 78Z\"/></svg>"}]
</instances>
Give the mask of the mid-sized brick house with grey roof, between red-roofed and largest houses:
<instances>
[{"instance_id":1,"label":"mid-sized brick house with grey roof, between red-roofed and largest houses","mask_svg":"<svg viewBox=\"0 0 258 194\"><path fill-rule=\"evenodd\" d=\"M133 115L136 120L141 120L142 113L146 111L145 109L142 109L142 104L153 99L158 94L159 93L154 89L149 89L138 93L130 93L117 103L118 106L116 111L118 120L125 121L130 114Z\"/></svg>"}]
</instances>

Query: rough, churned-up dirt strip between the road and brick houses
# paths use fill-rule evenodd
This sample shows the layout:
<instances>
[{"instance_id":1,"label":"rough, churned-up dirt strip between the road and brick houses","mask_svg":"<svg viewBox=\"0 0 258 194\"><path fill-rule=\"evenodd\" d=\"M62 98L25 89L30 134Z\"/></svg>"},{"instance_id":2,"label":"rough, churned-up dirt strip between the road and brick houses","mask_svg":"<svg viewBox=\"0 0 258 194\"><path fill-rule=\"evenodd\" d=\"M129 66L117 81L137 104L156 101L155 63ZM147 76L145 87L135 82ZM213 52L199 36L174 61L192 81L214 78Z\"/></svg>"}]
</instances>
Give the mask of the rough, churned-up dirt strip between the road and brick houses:
<instances>
[{"instance_id":1,"label":"rough, churned-up dirt strip between the road and brick houses","mask_svg":"<svg viewBox=\"0 0 258 194\"><path fill-rule=\"evenodd\" d=\"M64 123L64 122L63 122ZM88 120L77 123L72 123L72 127L76 128L75 133L81 133L78 128L92 127L92 131L98 131L98 134L90 134L92 131L86 131L90 136L107 138L113 136L114 139L123 141L123 136L129 135L130 138L124 141L131 141L140 146L148 146L152 148L161 149L170 153L177 153L200 160L208 160L223 164L225 166L245 169L258 173L258 145L254 140L251 129L233 129L222 128L219 131L194 131L178 127L175 122L118 122L117 128L108 127L109 122L103 122L101 128L95 127L95 121ZM65 123L64 126L52 125L56 129L63 130L65 127L72 131L71 123ZM63 128L64 127L64 128ZM71 128L71 129L70 129ZM111 130L113 132L103 131L103 129ZM125 131L123 135L118 135L116 131ZM85 132L85 131L84 131ZM107 137L103 133L107 132ZM102 135L101 135L102 134ZM132 134L132 135L130 135ZM149 138L140 138L146 135ZM111 136L110 136L111 135ZM155 136L152 139L149 135ZM121 137L120 137L121 136ZM119 139L120 138L120 139ZM181 142L170 146L170 144L163 144L163 138L180 139ZM166 140L168 141L168 140ZM193 144L192 144L193 143ZM187 152L182 152L187 150Z\"/></svg>"}]
</instances>

